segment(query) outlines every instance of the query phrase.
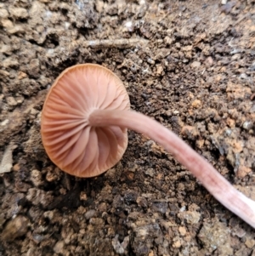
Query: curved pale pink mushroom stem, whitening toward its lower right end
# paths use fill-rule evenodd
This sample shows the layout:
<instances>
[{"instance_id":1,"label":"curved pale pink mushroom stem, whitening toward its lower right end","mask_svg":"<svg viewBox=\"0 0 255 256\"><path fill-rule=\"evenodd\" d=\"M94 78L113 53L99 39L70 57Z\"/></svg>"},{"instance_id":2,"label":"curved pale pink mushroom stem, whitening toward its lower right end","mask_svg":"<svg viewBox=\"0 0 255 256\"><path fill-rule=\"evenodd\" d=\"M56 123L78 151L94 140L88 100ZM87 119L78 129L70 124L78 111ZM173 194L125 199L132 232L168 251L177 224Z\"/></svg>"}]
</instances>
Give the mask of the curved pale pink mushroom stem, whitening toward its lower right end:
<instances>
[{"instance_id":1,"label":"curved pale pink mushroom stem, whitening toward its lower right end","mask_svg":"<svg viewBox=\"0 0 255 256\"><path fill-rule=\"evenodd\" d=\"M95 110L89 123L95 127L129 128L154 139L190 170L218 202L255 228L255 202L237 191L207 160L159 122L135 111Z\"/></svg>"}]
</instances>

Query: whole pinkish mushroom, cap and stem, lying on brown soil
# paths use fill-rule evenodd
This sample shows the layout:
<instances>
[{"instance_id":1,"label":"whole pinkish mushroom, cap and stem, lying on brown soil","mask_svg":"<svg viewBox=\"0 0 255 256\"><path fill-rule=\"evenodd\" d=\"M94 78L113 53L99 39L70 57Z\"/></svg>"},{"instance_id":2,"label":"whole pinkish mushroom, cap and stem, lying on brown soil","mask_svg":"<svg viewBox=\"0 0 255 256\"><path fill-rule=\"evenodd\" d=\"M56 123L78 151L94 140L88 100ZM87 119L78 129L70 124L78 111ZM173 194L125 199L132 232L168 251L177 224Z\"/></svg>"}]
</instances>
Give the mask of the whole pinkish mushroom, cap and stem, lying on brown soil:
<instances>
[{"instance_id":1,"label":"whole pinkish mushroom, cap and stem, lying on brown soil","mask_svg":"<svg viewBox=\"0 0 255 256\"><path fill-rule=\"evenodd\" d=\"M102 174L119 162L127 148L127 128L146 134L190 170L212 196L255 228L255 202L172 131L130 111L122 81L101 65L74 65L63 71L48 92L41 125L49 158L78 177Z\"/></svg>"}]
</instances>

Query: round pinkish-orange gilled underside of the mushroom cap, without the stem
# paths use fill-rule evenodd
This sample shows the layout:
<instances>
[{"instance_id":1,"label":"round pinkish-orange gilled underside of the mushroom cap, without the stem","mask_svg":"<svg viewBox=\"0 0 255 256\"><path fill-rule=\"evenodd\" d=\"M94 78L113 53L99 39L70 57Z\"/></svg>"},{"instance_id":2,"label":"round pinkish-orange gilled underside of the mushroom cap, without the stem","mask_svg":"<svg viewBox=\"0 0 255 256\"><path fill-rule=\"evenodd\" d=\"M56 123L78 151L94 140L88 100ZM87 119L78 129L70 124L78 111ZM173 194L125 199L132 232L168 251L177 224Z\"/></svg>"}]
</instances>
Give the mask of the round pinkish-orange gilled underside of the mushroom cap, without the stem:
<instances>
[{"instance_id":1,"label":"round pinkish-orange gilled underside of the mushroom cap, without the stem","mask_svg":"<svg viewBox=\"0 0 255 256\"><path fill-rule=\"evenodd\" d=\"M93 127L95 110L129 110L127 91L101 65L74 65L50 88L42 109L42 143L49 158L78 177L102 174L119 162L127 148L127 128Z\"/></svg>"}]
</instances>

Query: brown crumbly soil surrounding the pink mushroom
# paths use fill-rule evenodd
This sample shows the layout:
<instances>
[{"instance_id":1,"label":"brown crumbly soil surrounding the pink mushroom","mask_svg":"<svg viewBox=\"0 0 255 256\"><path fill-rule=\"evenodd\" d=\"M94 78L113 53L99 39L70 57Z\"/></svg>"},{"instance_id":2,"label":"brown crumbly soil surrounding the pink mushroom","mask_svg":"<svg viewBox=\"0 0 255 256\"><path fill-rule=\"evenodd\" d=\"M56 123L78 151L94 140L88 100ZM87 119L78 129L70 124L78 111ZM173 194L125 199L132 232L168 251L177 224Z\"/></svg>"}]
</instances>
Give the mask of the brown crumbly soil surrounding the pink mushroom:
<instances>
[{"instance_id":1,"label":"brown crumbly soil surrounding the pink mushroom","mask_svg":"<svg viewBox=\"0 0 255 256\"><path fill-rule=\"evenodd\" d=\"M2 0L0 255L254 256L254 230L149 138L129 131L121 162L78 179L40 136L59 73L105 65L255 199L254 56L254 0Z\"/></svg>"}]
</instances>

